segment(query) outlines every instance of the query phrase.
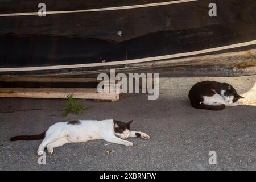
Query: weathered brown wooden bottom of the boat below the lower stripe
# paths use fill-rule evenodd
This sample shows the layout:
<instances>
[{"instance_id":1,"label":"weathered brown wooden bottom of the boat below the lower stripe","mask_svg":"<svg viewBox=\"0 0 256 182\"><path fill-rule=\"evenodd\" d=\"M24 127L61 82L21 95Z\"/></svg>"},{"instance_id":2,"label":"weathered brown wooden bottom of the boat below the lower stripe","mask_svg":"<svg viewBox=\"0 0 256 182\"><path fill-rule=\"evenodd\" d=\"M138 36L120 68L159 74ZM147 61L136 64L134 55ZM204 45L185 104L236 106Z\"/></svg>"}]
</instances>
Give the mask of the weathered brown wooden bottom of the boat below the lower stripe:
<instances>
[{"instance_id":1,"label":"weathered brown wooden bottom of the boat below the lower stripe","mask_svg":"<svg viewBox=\"0 0 256 182\"><path fill-rule=\"evenodd\" d=\"M159 73L160 77L191 76L245 76L256 75L256 46L247 46L177 59L156 60L144 63L52 69L48 71L3 72L5 76L38 77L97 77L115 68L119 73ZM0 72L1 75L1 72Z\"/></svg>"}]
</instances>

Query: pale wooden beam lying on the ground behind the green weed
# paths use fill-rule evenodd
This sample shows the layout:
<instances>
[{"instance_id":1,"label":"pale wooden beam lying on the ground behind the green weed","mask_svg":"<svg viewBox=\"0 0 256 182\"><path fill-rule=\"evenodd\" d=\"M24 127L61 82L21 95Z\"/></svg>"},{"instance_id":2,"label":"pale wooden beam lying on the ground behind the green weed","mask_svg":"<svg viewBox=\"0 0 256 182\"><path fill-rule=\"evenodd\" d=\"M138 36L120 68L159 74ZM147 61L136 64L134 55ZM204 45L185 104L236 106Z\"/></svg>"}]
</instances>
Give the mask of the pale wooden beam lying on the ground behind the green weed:
<instances>
[{"instance_id":1,"label":"pale wooden beam lying on the ground behind the green weed","mask_svg":"<svg viewBox=\"0 0 256 182\"><path fill-rule=\"evenodd\" d=\"M67 98L69 93L81 99L119 100L119 93L98 93L96 88L0 88L0 97Z\"/></svg>"}]
</instances>

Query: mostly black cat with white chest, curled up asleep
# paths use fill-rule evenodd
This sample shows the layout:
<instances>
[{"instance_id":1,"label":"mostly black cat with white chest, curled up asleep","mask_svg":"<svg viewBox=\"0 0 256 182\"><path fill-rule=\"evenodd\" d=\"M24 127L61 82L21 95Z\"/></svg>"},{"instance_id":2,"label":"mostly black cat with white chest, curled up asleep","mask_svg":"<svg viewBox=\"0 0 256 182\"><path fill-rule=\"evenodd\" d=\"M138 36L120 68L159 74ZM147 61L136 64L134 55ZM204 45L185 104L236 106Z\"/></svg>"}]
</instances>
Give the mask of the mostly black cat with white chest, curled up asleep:
<instances>
[{"instance_id":1,"label":"mostly black cat with white chest, curled up asleep","mask_svg":"<svg viewBox=\"0 0 256 182\"><path fill-rule=\"evenodd\" d=\"M243 98L227 83L202 81L193 85L188 94L192 107L196 109L222 110L226 106L242 105Z\"/></svg>"}]
</instances>

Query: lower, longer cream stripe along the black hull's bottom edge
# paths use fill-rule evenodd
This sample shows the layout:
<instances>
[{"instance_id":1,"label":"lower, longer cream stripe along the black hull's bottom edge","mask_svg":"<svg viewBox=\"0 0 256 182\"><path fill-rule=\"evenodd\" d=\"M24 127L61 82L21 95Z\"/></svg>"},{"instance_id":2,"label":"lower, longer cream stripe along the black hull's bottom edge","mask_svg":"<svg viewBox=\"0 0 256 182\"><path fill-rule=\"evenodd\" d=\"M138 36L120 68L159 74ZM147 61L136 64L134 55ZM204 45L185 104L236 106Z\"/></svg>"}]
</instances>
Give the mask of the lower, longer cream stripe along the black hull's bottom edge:
<instances>
[{"instance_id":1,"label":"lower, longer cream stripe along the black hull's bottom edge","mask_svg":"<svg viewBox=\"0 0 256 182\"><path fill-rule=\"evenodd\" d=\"M250 46L253 44L256 44L256 40L238 43L238 44L232 44L229 46L204 49L204 50L200 50L200 51L176 53L173 55L166 55L166 56L146 57L146 58L142 58L142 59L132 59L132 60L125 60L125 61L112 61L112 62L107 62L107 63L56 65L56 66L47 66L47 67L0 68L0 72L39 71L39 70L49 70L49 69L86 68L86 67L101 67L101 66L110 66L110 65L118 65L118 64L144 63L144 62L148 62L148 61L172 59L172 58L177 58L177 57L193 56L193 55L199 55L202 53L222 51L225 49Z\"/></svg>"}]
</instances>

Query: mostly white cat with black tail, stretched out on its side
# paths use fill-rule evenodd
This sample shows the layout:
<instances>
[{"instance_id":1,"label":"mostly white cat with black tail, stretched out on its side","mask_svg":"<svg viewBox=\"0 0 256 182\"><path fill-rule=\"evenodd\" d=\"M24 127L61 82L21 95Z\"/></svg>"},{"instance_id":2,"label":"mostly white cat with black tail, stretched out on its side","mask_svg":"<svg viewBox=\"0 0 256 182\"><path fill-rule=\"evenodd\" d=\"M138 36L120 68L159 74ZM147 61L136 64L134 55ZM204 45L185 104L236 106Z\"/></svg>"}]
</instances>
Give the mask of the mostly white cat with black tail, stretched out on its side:
<instances>
[{"instance_id":1,"label":"mostly white cat with black tail, stretched out on its side","mask_svg":"<svg viewBox=\"0 0 256 182\"><path fill-rule=\"evenodd\" d=\"M48 154L53 153L53 148L63 146L66 143L87 142L89 140L103 139L106 142L123 144L127 147L133 146L129 137L141 137L150 139L150 136L141 131L131 131L131 122L127 123L115 121L113 119L96 121L96 120L79 120L58 122L49 127L48 130L38 135L22 135L12 137L11 141L16 140L39 140L43 142L38 148L38 155L43 155L44 148L47 148Z\"/></svg>"}]
</instances>

